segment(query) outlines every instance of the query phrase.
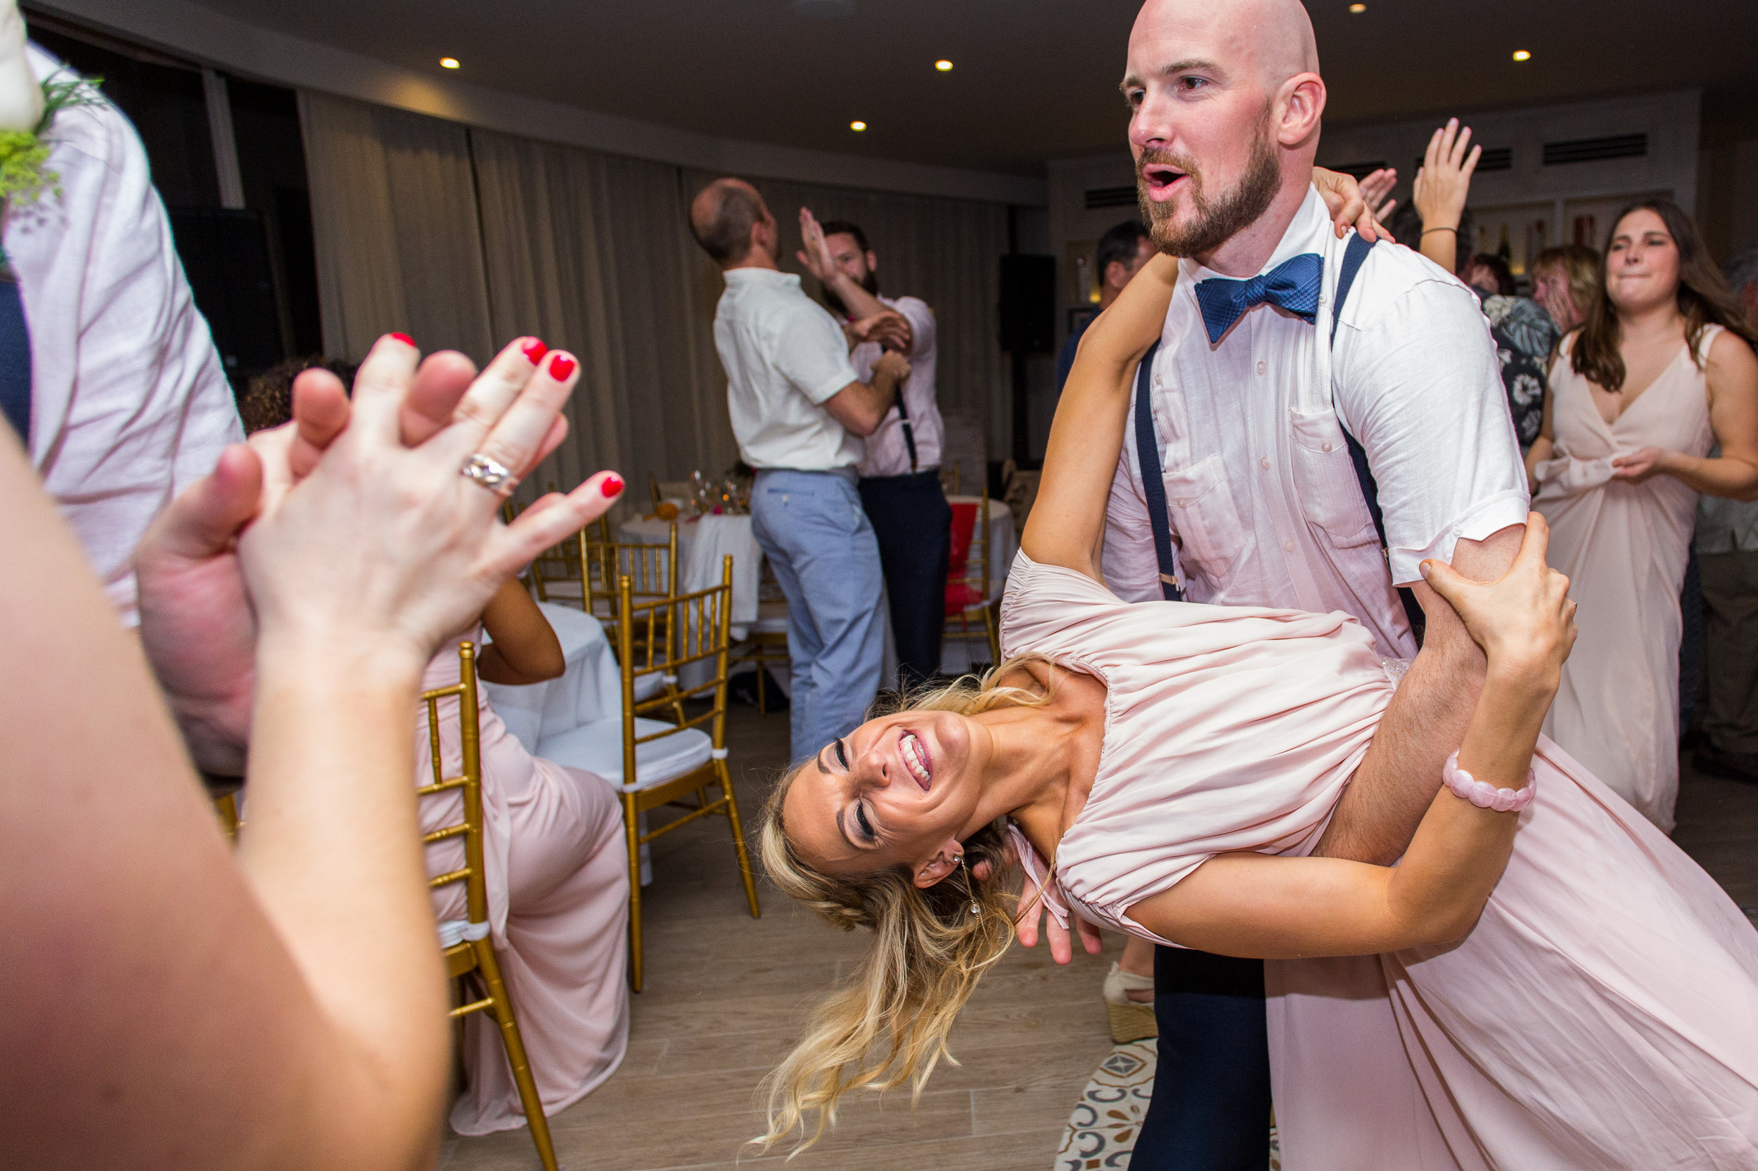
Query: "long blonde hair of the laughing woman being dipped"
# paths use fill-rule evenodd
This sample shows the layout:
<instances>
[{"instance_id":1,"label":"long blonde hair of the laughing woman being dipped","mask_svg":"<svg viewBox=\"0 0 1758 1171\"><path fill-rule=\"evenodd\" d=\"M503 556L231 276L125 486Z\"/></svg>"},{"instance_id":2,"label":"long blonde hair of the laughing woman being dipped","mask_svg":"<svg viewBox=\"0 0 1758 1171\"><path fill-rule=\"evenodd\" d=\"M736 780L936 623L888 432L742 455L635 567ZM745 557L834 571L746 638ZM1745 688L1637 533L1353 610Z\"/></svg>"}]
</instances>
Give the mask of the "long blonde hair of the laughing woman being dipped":
<instances>
[{"instance_id":1,"label":"long blonde hair of the laughing woman being dipped","mask_svg":"<svg viewBox=\"0 0 1758 1171\"><path fill-rule=\"evenodd\" d=\"M1048 695L997 686L1028 661L1044 659L1016 656L981 680L965 677L911 695L897 710L976 716L1046 703ZM814 870L788 842L781 814L803 767L782 775L763 807L763 867L786 895L833 927L870 930L874 942L854 976L812 1013L805 1039L765 1081L768 1132L752 1141L768 1150L798 1127L802 1141L795 1153L835 1125L837 1099L851 1088L890 1090L907 1080L914 1101L941 1057L958 1064L946 1048L946 1034L977 979L1013 942L1020 902L1006 818L972 833L963 842L962 872L926 890L916 886L905 867L853 876ZM986 877L979 879L976 872L984 862ZM972 902L977 914L970 913ZM817 1111L817 1120L809 1127L810 1111Z\"/></svg>"}]
</instances>

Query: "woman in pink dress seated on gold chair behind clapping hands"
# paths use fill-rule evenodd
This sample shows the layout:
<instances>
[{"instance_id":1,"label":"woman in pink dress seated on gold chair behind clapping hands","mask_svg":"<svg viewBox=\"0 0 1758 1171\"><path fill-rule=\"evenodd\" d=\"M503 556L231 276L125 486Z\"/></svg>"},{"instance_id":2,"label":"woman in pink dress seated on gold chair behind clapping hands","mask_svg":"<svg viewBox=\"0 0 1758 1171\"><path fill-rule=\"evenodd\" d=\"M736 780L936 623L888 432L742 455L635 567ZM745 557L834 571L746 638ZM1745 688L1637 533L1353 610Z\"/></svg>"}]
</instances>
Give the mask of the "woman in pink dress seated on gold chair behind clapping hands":
<instances>
[{"instance_id":1,"label":"woman in pink dress seated on gold chair behind clapping hands","mask_svg":"<svg viewBox=\"0 0 1758 1171\"><path fill-rule=\"evenodd\" d=\"M490 644L483 645L487 629ZM450 638L427 665L424 689L457 682L457 644L482 647L476 673L496 684L534 684L563 673L556 631L531 594L506 582L482 621ZM610 782L531 756L476 691L482 724L483 869L489 930L501 976L519 1016L531 1076L554 1115L615 1073L629 1039L628 962L629 856L622 807ZM415 782L431 784L427 714L415 721ZM457 702L440 705L447 775L457 775ZM420 802L422 833L462 821L462 793ZM427 874L464 865L462 839L427 847ZM468 918L464 884L434 891L434 914ZM485 1013L464 1018L469 1087L452 1106L459 1134L512 1131L526 1124L499 1030Z\"/></svg>"}]
</instances>

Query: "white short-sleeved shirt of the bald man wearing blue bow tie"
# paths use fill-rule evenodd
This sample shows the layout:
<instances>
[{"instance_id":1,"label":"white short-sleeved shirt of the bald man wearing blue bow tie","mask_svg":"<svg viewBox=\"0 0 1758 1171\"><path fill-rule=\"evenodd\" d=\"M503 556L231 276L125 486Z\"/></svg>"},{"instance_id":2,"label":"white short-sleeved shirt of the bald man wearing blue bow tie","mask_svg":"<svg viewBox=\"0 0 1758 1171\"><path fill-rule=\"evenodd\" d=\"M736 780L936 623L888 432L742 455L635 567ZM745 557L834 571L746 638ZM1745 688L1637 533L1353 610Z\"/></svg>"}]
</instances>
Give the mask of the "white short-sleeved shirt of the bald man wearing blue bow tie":
<instances>
[{"instance_id":1,"label":"white short-sleeved shirt of the bald man wearing blue bow tie","mask_svg":"<svg viewBox=\"0 0 1758 1171\"><path fill-rule=\"evenodd\" d=\"M1408 248L1377 244L1350 288L1333 353L1331 306L1348 239L1317 190L1264 264L1324 257L1317 324L1259 304L1215 345L1180 262L1153 357L1153 424L1176 578L1190 601L1343 610L1382 654L1415 638L1392 586L1424 557L1522 524L1529 505L1489 322L1477 297ZM1333 406L1334 404L1334 406ZM1368 452L1382 550L1341 417ZM1130 411L1108 512L1104 575L1120 598L1160 598Z\"/></svg>"}]
</instances>

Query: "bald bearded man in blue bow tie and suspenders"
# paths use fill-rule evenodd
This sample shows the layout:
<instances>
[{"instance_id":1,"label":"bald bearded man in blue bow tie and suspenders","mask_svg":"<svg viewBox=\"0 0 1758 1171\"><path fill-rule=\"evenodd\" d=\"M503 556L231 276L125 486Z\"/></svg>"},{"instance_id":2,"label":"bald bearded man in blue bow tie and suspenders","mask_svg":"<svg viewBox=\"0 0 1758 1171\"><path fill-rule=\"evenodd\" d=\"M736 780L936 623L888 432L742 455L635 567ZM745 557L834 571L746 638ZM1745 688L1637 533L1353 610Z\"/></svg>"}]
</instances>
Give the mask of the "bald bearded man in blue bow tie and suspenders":
<instances>
[{"instance_id":1,"label":"bald bearded man in blue bow tie and suspenders","mask_svg":"<svg viewBox=\"0 0 1758 1171\"><path fill-rule=\"evenodd\" d=\"M1528 510L1489 327L1452 274L1391 243L1357 246L1333 322L1354 234L1313 188L1326 84L1297 0L1151 0L1122 90L1143 222L1183 260L1136 383L1106 580L1129 601L1343 610L1387 659L1415 656L1427 615L1440 654L1410 670L1401 716L1382 724L1401 740L1387 747L1410 761L1406 781L1352 784L1347 816L1303 849L1389 865L1440 788L1484 673L1417 566L1438 557L1500 577ZM1134 1171L1268 1166L1271 1044L1320 1044L1285 1011L1299 997L1348 1002L1362 1046L1401 1046L1373 956L1266 964L1157 948L1153 969L1160 1060ZM1301 1118L1368 1101L1424 1113L1413 1081L1354 1087L1348 1055L1326 1057L1338 1064L1327 1101L1308 1090L1276 1102L1285 1141ZM1427 1148L1433 1122L1408 1125ZM1285 1150L1283 1166L1378 1167L1366 1131L1361 1152Z\"/></svg>"}]
</instances>

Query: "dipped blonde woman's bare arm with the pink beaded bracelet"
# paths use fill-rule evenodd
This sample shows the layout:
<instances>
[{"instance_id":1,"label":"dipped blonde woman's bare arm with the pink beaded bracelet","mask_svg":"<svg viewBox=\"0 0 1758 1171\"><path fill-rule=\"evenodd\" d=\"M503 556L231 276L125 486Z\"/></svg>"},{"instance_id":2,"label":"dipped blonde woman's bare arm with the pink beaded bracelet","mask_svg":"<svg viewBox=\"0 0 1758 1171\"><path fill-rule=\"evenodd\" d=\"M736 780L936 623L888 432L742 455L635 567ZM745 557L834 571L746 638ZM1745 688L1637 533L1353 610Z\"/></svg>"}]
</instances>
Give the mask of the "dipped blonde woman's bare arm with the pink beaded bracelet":
<instances>
[{"instance_id":1,"label":"dipped blonde woman's bare arm with the pink beaded bracelet","mask_svg":"<svg viewBox=\"0 0 1758 1171\"><path fill-rule=\"evenodd\" d=\"M1514 570L1477 586L1435 570L1431 580L1489 652L1489 680L1471 714L1459 767L1521 788L1538 730L1573 644L1568 578L1547 570L1542 519ZM1341 858L1222 855L1130 918L1174 942L1220 955L1292 958L1369 955L1464 935L1514 846L1517 814L1436 793L1396 869Z\"/></svg>"}]
</instances>

